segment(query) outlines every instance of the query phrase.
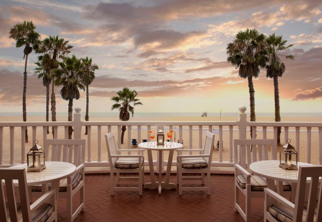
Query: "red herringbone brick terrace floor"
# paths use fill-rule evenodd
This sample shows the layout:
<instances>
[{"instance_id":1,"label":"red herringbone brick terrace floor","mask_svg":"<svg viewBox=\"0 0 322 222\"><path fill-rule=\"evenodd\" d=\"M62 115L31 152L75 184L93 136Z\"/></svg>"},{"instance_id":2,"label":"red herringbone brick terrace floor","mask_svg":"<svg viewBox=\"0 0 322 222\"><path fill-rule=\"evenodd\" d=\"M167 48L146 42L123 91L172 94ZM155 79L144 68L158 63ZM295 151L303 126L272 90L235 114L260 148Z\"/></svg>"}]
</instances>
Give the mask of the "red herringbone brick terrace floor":
<instances>
[{"instance_id":1,"label":"red herringbone brick terrace floor","mask_svg":"<svg viewBox=\"0 0 322 222\"><path fill-rule=\"evenodd\" d=\"M244 221L234 211L234 176L211 175L211 195L204 191L183 192L163 189L144 189L143 195L135 192L114 192L109 194L109 174L90 174L85 176L86 208L74 220L79 221ZM145 175L145 181L150 181ZM171 175L176 182L176 175ZM137 186L137 181L120 181L120 186ZM201 186L199 181L186 181L184 186ZM243 204L244 197L241 195ZM74 208L79 203L79 195L74 199ZM263 198L252 199L251 221L263 221ZM66 200L58 202L58 221L66 220Z\"/></svg>"}]
</instances>

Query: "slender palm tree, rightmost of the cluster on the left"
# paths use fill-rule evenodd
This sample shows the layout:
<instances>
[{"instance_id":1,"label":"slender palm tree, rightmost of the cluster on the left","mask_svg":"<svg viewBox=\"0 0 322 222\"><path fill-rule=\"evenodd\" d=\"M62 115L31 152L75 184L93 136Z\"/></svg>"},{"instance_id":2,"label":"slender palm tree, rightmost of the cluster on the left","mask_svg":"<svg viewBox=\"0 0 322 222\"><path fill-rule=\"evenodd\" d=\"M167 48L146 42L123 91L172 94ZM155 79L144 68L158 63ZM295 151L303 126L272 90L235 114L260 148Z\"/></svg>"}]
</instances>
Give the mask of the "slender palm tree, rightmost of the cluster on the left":
<instances>
[{"instance_id":1,"label":"slender palm tree, rightmost of the cluster on the left","mask_svg":"<svg viewBox=\"0 0 322 222\"><path fill-rule=\"evenodd\" d=\"M88 94L88 86L93 82L95 78L95 70L99 69L99 66L96 64L92 64L92 58L82 58L81 59L83 62L83 70L85 74L85 85L86 85L86 114L85 114L85 121L89 121L90 117L88 115L88 106L89 106L89 94ZM85 135L87 135L87 126L85 127Z\"/></svg>"}]
</instances>

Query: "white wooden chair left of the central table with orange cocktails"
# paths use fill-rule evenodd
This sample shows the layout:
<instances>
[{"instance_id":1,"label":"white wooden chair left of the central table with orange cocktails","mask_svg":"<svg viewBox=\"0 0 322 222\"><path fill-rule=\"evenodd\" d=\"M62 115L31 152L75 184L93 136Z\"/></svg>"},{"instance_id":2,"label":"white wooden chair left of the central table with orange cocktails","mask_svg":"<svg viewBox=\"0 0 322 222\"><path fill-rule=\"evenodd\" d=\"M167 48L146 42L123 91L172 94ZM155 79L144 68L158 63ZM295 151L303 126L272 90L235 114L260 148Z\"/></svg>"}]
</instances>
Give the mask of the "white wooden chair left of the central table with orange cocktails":
<instances>
[{"instance_id":1,"label":"white wooden chair left of the central table with orange cocktails","mask_svg":"<svg viewBox=\"0 0 322 222\"><path fill-rule=\"evenodd\" d=\"M107 153L110 166L110 193L114 191L138 191L142 195L142 185L144 184L144 156L143 149L117 149L114 132L105 135ZM137 155L121 155L121 152L137 152ZM139 154L140 153L140 154ZM114 173L117 174L116 184L120 180L138 180L138 187L114 187ZM138 177L120 177L120 173L138 173Z\"/></svg>"}]
</instances>

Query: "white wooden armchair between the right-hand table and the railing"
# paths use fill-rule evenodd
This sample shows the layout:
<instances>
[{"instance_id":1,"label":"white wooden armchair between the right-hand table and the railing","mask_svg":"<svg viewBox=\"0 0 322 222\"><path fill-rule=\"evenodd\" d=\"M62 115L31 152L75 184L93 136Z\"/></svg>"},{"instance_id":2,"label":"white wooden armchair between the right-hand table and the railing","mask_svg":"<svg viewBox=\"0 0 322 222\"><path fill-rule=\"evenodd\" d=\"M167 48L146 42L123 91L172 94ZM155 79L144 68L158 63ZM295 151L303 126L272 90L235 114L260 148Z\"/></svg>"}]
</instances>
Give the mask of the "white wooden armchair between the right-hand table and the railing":
<instances>
[{"instance_id":1,"label":"white wooden armchair between the right-hand table and the railing","mask_svg":"<svg viewBox=\"0 0 322 222\"><path fill-rule=\"evenodd\" d=\"M235 212L239 212L245 221L251 221L251 198L264 197L267 187L266 178L252 175L249 169L251 163L268 160L268 145L273 160L277 158L274 139L235 139ZM238 152L238 146L240 146ZM258 146L258 152L256 149ZM253 148L251 148L253 147ZM247 152L246 152L247 151ZM239 192L246 197L245 212L239 206ZM291 197L291 184L283 182L283 196Z\"/></svg>"}]
</instances>

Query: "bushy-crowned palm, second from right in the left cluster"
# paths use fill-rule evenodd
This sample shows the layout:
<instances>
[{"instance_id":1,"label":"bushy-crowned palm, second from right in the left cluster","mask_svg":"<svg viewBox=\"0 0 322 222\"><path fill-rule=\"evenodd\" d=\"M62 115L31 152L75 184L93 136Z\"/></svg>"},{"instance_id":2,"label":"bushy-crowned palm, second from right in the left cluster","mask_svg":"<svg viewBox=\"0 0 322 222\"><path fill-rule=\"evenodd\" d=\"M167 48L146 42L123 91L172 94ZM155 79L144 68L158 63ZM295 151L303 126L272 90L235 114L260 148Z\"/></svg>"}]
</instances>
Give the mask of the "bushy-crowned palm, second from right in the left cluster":
<instances>
[{"instance_id":1,"label":"bushy-crowned palm, second from right in the left cluster","mask_svg":"<svg viewBox=\"0 0 322 222\"><path fill-rule=\"evenodd\" d=\"M85 91L83 64L81 59L75 55L64 57L62 62L58 62L59 68L52 71L56 86L62 86L61 96L68 100L68 121L72 121L73 99L80 98L79 89ZM71 139L73 129L68 127L68 138Z\"/></svg>"}]
</instances>

